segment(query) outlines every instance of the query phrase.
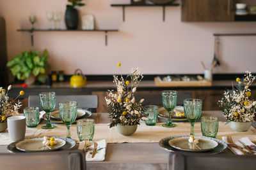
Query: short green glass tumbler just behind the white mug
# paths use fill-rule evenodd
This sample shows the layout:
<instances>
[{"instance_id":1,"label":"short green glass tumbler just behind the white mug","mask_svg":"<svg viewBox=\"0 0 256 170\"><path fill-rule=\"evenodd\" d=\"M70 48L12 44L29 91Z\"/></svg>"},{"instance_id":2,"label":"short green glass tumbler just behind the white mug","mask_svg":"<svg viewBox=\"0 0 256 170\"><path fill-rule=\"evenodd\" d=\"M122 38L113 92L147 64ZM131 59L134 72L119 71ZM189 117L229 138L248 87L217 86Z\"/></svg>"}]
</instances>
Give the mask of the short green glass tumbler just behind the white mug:
<instances>
[{"instance_id":1,"label":"short green glass tumbler just behind the white mug","mask_svg":"<svg viewBox=\"0 0 256 170\"><path fill-rule=\"evenodd\" d=\"M36 127L39 123L39 108L28 107L24 108L24 115L26 117L27 127Z\"/></svg>"}]
</instances>

